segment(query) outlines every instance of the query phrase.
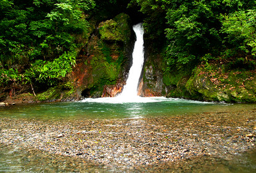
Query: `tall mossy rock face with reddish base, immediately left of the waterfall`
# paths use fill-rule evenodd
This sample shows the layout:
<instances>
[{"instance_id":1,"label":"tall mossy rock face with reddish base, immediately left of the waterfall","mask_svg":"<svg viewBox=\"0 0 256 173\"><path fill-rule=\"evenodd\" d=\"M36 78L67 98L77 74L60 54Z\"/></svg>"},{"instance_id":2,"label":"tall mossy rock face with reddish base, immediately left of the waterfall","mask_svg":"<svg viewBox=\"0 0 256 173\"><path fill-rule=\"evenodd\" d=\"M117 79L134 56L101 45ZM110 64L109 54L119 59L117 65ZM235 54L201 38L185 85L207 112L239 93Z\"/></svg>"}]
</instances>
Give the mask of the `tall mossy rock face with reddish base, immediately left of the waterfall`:
<instances>
[{"instance_id":1,"label":"tall mossy rock face with reddish base, immediately left of the waterfall","mask_svg":"<svg viewBox=\"0 0 256 173\"><path fill-rule=\"evenodd\" d=\"M77 95L115 96L121 92L130 67L133 40L131 21L125 13L99 23L71 75Z\"/></svg>"}]
</instances>

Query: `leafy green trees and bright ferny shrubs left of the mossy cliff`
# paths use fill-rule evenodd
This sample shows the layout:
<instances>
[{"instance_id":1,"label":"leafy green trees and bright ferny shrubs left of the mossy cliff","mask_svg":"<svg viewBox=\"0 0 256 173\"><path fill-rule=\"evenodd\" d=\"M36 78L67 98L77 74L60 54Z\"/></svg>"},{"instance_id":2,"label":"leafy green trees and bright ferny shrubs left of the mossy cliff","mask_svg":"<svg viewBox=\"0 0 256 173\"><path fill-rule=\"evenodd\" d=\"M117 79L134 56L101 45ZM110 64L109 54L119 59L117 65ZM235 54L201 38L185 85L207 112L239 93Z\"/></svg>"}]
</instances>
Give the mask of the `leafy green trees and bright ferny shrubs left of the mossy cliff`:
<instances>
[{"instance_id":1,"label":"leafy green trees and bright ferny shrubs left of the mossy cliff","mask_svg":"<svg viewBox=\"0 0 256 173\"><path fill-rule=\"evenodd\" d=\"M70 71L77 48L88 39L85 13L94 7L93 0L1 1L0 75L21 65L29 68L25 80L55 85Z\"/></svg>"}]
</instances>

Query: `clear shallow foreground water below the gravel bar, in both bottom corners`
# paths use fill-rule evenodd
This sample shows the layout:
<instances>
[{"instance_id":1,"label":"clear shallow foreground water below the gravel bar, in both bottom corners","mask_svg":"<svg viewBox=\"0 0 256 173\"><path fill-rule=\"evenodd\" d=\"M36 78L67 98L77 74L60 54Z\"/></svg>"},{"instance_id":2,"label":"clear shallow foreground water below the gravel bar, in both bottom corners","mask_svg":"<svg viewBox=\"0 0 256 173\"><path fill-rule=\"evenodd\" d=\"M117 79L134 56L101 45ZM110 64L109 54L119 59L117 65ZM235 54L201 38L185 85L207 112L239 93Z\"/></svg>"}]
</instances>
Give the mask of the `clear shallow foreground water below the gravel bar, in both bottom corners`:
<instances>
[{"instance_id":1,"label":"clear shallow foreground water below the gravel bar, in both bottom corners","mask_svg":"<svg viewBox=\"0 0 256 173\"><path fill-rule=\"evenodd\" d=\"M1 146L1 145L0 145ZM222 172L251 173L256 172L256 150L239 154L232 160L219 158L199 158L186 161L182 166L165 166L163 168L142 168L129 172ZM22 148L0 148L0 172L119 172L111 168L93 165L81 158L55 156L35 150Z\"/></svg>"}]
</instances>

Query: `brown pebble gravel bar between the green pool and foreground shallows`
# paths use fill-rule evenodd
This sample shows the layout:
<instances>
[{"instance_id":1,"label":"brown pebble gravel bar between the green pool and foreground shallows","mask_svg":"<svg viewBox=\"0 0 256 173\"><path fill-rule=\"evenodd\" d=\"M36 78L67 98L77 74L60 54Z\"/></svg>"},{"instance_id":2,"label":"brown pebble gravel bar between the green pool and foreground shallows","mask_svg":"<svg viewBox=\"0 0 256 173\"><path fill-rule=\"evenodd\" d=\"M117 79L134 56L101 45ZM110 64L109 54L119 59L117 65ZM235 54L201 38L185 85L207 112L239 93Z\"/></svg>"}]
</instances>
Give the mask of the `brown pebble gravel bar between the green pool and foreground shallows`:
<instances>
[{"instance_id":1,"label":"brown pebble gravel bar between the green pool and foreground shallows","mask_svg":"<svg viewBox=\"0 0 256 173\"><path fill-rule=\"evenodd\" d=\"M110 171L179 170L188 160L228 160L253 150L256 110L110 120L0 118L0 130L3 146L68 156Z\"/></svg>"}]
</instances>

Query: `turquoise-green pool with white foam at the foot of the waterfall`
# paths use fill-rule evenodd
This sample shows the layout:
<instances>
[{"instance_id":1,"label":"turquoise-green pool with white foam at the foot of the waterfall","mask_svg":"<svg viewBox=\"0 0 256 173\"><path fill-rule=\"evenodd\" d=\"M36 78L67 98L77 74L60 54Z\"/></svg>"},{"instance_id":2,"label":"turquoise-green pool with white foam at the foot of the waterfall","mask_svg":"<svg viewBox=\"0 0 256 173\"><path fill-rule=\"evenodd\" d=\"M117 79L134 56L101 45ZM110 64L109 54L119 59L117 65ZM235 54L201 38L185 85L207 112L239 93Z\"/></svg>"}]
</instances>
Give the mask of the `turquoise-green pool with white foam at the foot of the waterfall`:
<instances>
[{"instance_id":1,"label":"turquoise-green pool with white foam at the foot of the waterfall","mask_svg":"<svg viewBox=\"0 0 256 173\"><path fill-rule=\"evenodd\" d=\"M144 102L111 102L89 99L0 107L0 116L13 118L133 118L175 116L197 112L225 112L255 108L255 104L224 104L177 98L150 98ZM101 102L103 101L103 102Z\"/></svg>"}]
</instances>

